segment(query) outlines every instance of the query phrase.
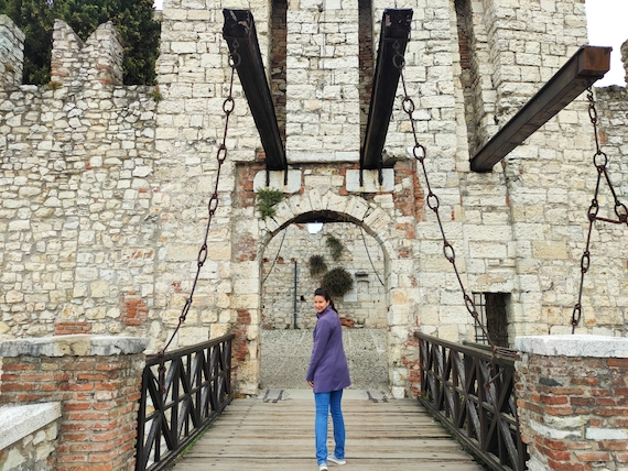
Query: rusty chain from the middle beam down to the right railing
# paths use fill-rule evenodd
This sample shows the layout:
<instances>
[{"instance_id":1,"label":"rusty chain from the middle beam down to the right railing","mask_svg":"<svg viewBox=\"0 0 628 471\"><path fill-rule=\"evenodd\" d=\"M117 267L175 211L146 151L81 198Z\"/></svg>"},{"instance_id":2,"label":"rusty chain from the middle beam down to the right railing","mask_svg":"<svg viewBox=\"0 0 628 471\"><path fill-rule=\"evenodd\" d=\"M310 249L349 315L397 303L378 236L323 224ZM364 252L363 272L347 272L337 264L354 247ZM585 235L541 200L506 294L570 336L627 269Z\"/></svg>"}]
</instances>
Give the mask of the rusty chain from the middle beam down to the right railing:
<instances>
[{"instance_id":1,"label":"rusty chain from the middle beam down to the right railing","mask_svg":"<svg viewBox=\"0 0 628 471\"><path fill-rule=\"evenodd\" d=\"M436 221L438 222L438 228L441 229L441 236L443 238L443 254L445 255L445 259L447 259L447 261L452 264L452 266L454 269L454 272L456 274L456 278L458 280L459 287L463 292L463 297L465 300L465 307L468 310L468 313L470 314L470 316L473 317L475 325L481 329L483 335L485 336L488 344L490 346L491 358L490 358L489 370L494 370L495 369L495 358L497 355L497 346L491 340L491 338L488 333L488 329L481 322L474 300L472 299L472 297L467 294L467 292L465 289L465 285L463 283L463 280L461 277L461 273L459 273L458 267L456 265L456 252L454 251L454 247L447 241L447 236L445 234L445 228L443 227L443 221L441 219L441 213L438 211L438 209L441 207L441 201L440 201L438 197L436 196L436 194L432 190L432 186L430 185L430 176L427 174L427 169L425 168L425 158L427 156L427 152L425 150L425 146L419 143L419 138L416 135L416 125L415 125L414 119L412 117L412 113L414 112L414 101L412 101L412 98L410 98L410 96L408 95L408 88L405 87L405 77L403 76L403 67L405 66L405 58L399 52L399 50L400 50L399 42L396 41L392 47L396 51L396 54L392 57L392 64L394 65L394 67L397 67L399 69L400 76L401 76L401 84L403 86L402 109L408 114L408 120L410 121L410 124L412 125L412 135L414 138L414 147L412 149L412 155L421 164L421 168L423 169L423 176L425 177L425 186L427 187L427 198L426 198L427 207L432 211L434 211L434 215L436 215ZM490 383L492 383L500 374L501 374L501 372L498 373L497 376L491 377L489 381L487 381L484 385L485 388L488 388Z\"/></svg>"}]
</instances>

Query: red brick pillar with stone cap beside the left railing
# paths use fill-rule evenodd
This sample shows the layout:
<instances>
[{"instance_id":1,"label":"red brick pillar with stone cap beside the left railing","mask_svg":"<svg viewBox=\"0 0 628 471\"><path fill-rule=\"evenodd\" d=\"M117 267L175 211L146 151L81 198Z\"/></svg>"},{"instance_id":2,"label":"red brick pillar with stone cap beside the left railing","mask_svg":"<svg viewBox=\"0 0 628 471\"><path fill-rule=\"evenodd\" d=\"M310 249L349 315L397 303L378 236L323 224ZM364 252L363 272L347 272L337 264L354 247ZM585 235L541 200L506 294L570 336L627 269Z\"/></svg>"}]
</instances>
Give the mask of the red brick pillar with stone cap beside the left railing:
<instances>
[{"instance_id":1,"label":"red brick pillar with stone cap beside the left railing","mask_svg":"<svg viewBox=\"0 0 628 471\"><path fill-rule=\"evenodd\" d=\"M147 344L80 335L6 341L0 405L62 403L55 470L132 470Z\"/></svg>"}]
</instances>

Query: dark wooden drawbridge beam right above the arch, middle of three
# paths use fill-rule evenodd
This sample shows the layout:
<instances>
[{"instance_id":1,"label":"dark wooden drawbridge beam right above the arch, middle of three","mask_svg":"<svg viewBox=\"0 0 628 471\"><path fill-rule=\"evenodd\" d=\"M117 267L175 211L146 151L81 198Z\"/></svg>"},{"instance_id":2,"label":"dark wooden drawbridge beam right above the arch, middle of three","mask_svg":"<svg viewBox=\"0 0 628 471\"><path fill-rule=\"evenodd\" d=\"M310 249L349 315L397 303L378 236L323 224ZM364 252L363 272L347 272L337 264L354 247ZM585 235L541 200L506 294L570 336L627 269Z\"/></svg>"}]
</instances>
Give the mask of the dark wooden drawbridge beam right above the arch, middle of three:
<instances>
[{"instance_id":1,"label":"dark wooden drawbridge beam right above the arch, middle of three","mask_svg":"<svg viewBox=\"0 0 628 471\"><path fill-rule=\"evenodd\" d=\"M398 52L402 56L405 53L405 46L410 40L411 21L412 10L383 11L368 121L360 152L360 168L362 169L381 167L381 152L388 134L401 74L393 63L393 57ZM396 43L398 50L394 48ZM397 63L399 62L400 58L397 59Z\"/></svg>"}]
</instances>

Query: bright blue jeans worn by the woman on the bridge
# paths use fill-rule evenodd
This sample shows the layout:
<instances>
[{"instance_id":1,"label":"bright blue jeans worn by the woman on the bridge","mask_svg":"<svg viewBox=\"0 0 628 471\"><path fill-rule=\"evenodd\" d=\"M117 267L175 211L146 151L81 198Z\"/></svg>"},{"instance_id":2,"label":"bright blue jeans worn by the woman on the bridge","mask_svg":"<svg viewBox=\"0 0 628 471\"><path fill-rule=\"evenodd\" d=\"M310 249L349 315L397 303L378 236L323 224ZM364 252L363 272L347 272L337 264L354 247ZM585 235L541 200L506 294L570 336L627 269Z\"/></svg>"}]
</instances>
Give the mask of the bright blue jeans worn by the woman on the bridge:
<instances>
[{"instance_id":1,"label":"bright blue jeans worn by the woman on the bridge","mask_svg":"<svg viewBox=\"0 0 628 471\"><path fill-rule=\"evenodd\" d=\"M336 448L334 454L338 459L345 458L345 419L340 409L343 401L343 390L331 393L314 393L316 403L316 420L314 424L314 435L316 437L316 460L318 464L327 462L327 419L332 413L332 424L334 425L334 440Z\"/></svg>"}]
</instances>

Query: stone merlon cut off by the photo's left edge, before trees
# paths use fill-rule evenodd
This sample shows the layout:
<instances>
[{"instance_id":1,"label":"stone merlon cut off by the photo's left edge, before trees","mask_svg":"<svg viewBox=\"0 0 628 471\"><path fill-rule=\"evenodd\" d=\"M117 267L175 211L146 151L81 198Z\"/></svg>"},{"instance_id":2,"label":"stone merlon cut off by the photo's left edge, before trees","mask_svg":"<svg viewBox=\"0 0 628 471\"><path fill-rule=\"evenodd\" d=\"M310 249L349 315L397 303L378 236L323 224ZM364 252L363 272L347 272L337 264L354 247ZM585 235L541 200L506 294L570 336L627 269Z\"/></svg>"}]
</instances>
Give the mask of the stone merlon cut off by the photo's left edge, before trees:
<instances>
[{"instance_id":1,"label":"stone merlon cut off by the photo's left edge, before trees","mask_svg":"<svg viewBox=\"0 0 628 471\"><path fill-rule=\"evenodd\" d=\"M24 33L6 14L0 14L0 88L22 85Z\"/></svg>"}]
</instances>

